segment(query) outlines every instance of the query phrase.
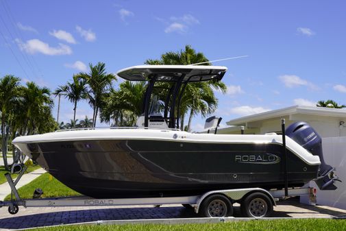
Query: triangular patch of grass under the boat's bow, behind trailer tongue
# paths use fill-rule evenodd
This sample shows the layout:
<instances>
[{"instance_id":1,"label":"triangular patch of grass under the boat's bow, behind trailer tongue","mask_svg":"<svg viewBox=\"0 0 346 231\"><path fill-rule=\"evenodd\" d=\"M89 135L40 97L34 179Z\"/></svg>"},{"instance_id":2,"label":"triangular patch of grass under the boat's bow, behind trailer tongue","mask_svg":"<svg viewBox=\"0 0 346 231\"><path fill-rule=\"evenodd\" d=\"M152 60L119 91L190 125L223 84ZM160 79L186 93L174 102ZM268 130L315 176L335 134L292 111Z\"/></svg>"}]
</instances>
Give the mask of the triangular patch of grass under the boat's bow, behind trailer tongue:
<instances>
[{"instance_id":1,"label":"triangular patch of grass under the boat's bow, behind trailer tongue","mask_svg":"<svg viewBox=\"0 0 346 231\"><path fill-rule=\"evenodd\" d=\"M73 191L69 187L62 184L60 181L53 178L49 173L44 173L38 178L25 184L25 186L18 189L18 193L23 199L32 199L35 189L40 188L43 191L42 198L44 197L71 197L81 195L76 191ZM5 200L9 200L10 195L5 197Z\"/></svg>"}]
</instances>

